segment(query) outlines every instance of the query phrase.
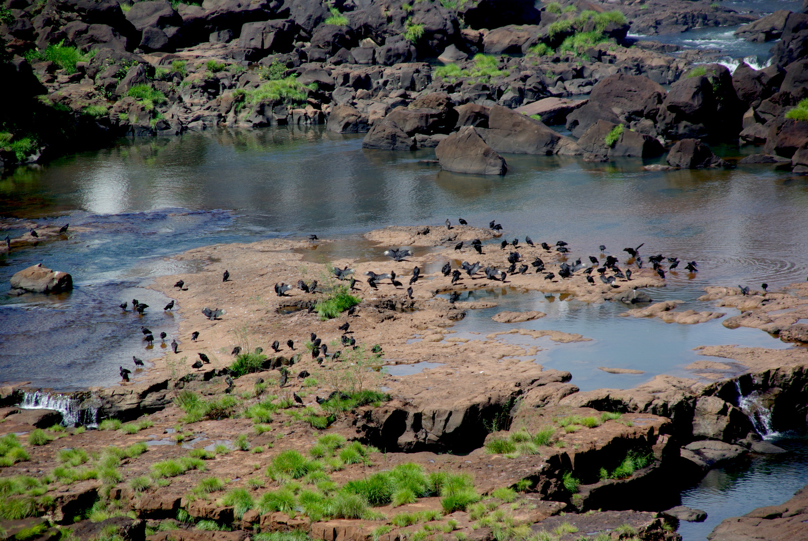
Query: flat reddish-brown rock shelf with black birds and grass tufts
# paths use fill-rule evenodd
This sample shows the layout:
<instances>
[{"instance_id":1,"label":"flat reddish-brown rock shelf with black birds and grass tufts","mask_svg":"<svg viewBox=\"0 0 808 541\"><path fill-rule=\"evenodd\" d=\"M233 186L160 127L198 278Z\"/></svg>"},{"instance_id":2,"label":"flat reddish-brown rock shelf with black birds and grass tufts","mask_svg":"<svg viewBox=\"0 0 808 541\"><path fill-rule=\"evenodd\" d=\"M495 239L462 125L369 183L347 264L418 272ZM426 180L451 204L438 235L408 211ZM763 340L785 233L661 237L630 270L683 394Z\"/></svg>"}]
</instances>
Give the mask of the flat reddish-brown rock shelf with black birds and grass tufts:
<instances>
[{"instance_id":1,"label":"flat reddish-brown rock shelf with black birds and grass tufts","mask_svg":"<svg viewBox=\"0 0 808 541\"><path fill-rule=\"evenodd\" d=\"M503 250L496 231L465 225L367 237L385 243L380 251L387 241L411 241L416 254L402 262L335 258L335 267L354 270L343 281L313 262L327 240L213 245L176 256L201 263L153 286L173 296L183 316L177 353L151 359L131 383L74 396L76 410L97 413L100 430L62 428L58 413L15 406L24 386L3 388L0 433L19 434L4 436L0 448L9 480L0 506L5 535L34 528L29 539L59 529L78 539L102 530L124 539L522 541L582 532L678 539L675 521L699 518L677 507L683 484L750 452L780 452L761 440L761 423L806 428L802 348L705 347L701 354L722 362L693 363L692 378L659 375L633 389L579 392L570 372L524 359L537 347L500 342L499 333L452 338L466 311L490 306L444 300L452 292L510 285L630 308L631 298L648 304L633 287L653 295L664 286L655 273L608 284L545 279L577 257L573 246ZM488 241L481 254L468 247L478 237ZM491 269L504 268L512 252L545 268L505 276ZM481 269L451 283L463 259L479 259L488 277ZM368 272L386 276L371 275L373 287ZM359 279L353 287L351 277ZM294 287L284 291L284 283ZM727 306L743 297L751 303L744 313L762 320L775 305L802 305L798 287L765 297L732 288L707 295ZM350 312L355 301L347 296L358 297ZM338 299L346 304L335 308ZM495 319L541 321L541 312ZM587 340L504 332L523 330L549 334L561 347ZM422 361L441 366L410 375L380 370ZM799 527L770 518L760 520L782 531Z\"/></svg>"}]
</instances>

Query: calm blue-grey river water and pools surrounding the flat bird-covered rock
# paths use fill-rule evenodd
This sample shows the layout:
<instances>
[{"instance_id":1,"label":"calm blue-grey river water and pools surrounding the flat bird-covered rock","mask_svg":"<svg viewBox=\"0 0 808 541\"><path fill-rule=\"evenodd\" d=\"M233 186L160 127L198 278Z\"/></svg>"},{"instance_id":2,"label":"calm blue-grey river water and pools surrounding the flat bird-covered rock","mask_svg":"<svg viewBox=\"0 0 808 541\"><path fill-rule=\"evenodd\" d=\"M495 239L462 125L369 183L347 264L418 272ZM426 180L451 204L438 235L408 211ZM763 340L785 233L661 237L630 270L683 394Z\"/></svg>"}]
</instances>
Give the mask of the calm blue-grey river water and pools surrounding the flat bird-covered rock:
<instances>
[{"instance_id":1,"label":"calm blue-grey river water and pools surrounding the flat bird-covered rock","mask_svg":"<svg viewBox=\"0 0 808 541\"><path fill-rule=\"evenodd\" d=\"M168 342L177 327L179 315L160 309L168 299L142 286L156 275L193 270L172 261L172 254L218 242L317 233L346 239L331 246L331 253L381 260L381 249L360 241L358 233L388 224L442 224L460 216L486 227L495 219L507 238L564 240L574 257L600 254L604 244L607 254L624 260L623 247L644 242L643 254L696 260L700 272L671 273L667 287L649 292L654 300L680 299L683 308L697 309L714 308L697 300L706 285L767 282L777 288L808 275L808 180L787 171L647 172L640 160L589 164L574 157L507 156L508 174L491 178L440 171L421 162L434 157L428 149L367 151L361 140L322 128L191 133L120 141L2 178L0 216L12 225L12 237L23 233L19 225L13 229L23 218L87 230L0 258L3 283L43 262L71 273L76 284L60 296L0 296L0 381L59 390L115 384L118 367L131 367L133 354L149 359L162 350L159 340L146 349L141 325L165 331ZM718 150L726 157L741 152ZM118 308L133 297L153 307L145 317ZM726 329L720 321L667 325L618 317L624 308L613 303L583 304L507 288L473 297L495 300L499 307L469 311L454 328L458 335L518 326L593 338L561 345L546 338L503 338L540 346L537 362L570 370L582 389L632 387L663 372L688 375L684 366L698 359L695 346L788 347L754 329ZM494 324L490 316L499 309L538 309L548 317ZM598 366L646 373L611 375ZM804 467L805 457L796 456ZM787 476L793 464L784 468ZM764 484L768 474L749 475ZM772 498L785 501L786 488L793 493L791 484L773 495L736 491L737 505L713 505L710 520L768 505L761 501ZM692 489L692 505L713 489ZM705 535L705 526L682 528L688 540Z\"/></svg>"}]
</instances>

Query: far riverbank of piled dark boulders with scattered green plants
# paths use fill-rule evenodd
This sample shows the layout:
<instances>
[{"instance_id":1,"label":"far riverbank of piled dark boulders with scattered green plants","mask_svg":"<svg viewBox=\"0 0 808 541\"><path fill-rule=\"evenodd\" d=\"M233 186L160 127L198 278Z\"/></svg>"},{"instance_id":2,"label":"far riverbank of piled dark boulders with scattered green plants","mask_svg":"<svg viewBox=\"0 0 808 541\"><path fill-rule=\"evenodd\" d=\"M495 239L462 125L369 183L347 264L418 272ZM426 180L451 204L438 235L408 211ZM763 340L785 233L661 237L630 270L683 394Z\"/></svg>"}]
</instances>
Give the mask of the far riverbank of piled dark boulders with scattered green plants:
<instances>
[{"instance_id":1,"label":"far riverbank of piled dark boulders with scattered green plants","mask_svg":"<svg viewBox=\"0 0 808 541\"><path fill-rule=\"evenodd\" d=\"M20 106L3 113L6 166L124 135L327 123L368 132L367 149L448 138L436 151L441 165L484 174L507 170L499 153L654 157L692 138L763 145L744 161L808 170L802 13L758 20L675 0L14 0L3 9L10 60L2 73L15 81L3 91ZM626 37L739 23L751 23L739 36L779 40L771 66L742 64L730 75ZM443 65L427 61L434 57ZM574 111L542 103L585 94L589 103ZM538 112L520 110L530 106ZM502 109L534 116L519 120ZM565 123L577 144L545 126ZM461 128L458 140L452 132ZM702 152L668 162L725 165ZM472 153L486 158L451 165Z\"/></svg>"}]
</instances>

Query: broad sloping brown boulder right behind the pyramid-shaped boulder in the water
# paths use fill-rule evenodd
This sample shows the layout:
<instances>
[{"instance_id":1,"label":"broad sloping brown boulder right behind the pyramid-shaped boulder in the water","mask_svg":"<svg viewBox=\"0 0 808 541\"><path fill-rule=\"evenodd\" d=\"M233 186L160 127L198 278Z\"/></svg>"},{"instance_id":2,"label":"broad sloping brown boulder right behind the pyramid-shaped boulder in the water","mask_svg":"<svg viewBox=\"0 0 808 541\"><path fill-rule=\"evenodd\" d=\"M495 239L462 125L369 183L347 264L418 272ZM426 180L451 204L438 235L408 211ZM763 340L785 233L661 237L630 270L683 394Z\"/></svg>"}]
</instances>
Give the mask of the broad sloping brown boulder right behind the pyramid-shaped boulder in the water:
<instances>
[{"instance_id":1,"label":"broad sloping brown boulder right behind the pyramid-shaped boulder in the water","mask_svg":"<svg viewBox=\"0 0 808 541\"><path fill-rule=\"evenodd\" d=\"M478 128L480 136L496 152L514 154L579 155L583 150L574 140L561 136L538 120L494 105L488 116L488 129Z\"/></svg>"}]
</instances>

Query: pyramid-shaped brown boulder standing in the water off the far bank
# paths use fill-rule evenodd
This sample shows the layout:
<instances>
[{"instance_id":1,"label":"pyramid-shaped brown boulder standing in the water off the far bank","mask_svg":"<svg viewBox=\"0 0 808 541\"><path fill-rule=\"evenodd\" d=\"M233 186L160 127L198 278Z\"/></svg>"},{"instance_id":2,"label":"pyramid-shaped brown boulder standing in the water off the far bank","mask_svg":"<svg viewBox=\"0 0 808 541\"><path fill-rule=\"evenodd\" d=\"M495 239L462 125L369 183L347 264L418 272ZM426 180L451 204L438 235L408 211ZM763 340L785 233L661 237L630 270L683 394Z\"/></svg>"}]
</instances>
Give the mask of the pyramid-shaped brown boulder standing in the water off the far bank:
<instances>
[{"instance_id":1,"label":"pyramid-shaped brown boulder standing in the water off the far bank","mask_svg":"<svg viewBox=\"0 0 808 541\"><path fill-rule=\"evenodd\" d=\"M456 173L505 174L505 158L486 145L477 129L464 126L440 141L435 149L440 167Z\"/></svg>"}]
</instances>

